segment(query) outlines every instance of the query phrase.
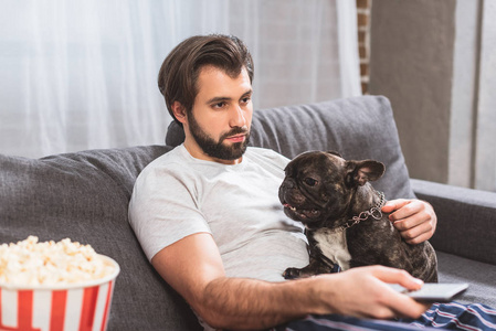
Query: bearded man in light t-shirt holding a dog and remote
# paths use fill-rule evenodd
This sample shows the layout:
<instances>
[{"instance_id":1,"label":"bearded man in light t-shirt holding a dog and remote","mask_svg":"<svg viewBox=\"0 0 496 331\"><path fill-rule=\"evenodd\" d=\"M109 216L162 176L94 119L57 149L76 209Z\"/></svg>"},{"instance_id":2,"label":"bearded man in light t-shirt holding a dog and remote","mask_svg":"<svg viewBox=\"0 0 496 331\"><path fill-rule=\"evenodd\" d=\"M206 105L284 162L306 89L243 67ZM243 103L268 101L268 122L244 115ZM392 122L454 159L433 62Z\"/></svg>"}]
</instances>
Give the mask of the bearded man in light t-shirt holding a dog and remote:
<instances>
[{"instance_id":1,"label":"bearded man in light t-shirt holding a dog and remote","mask_svg":"<svg viewBox=\"0 0 496 331\"><path fill-rule=\"evenodd\" d=\"M308 314L415 319L425 311L387 286L422 286L398 269L372 266L284 281L286 267L308 264L307 247L277 199L288 160L246 147L253 63L240 40L190 38L166 58L158 81L186 139L139 175L129 218L154 267L202 323L253 330ZM409 243L435 231L425 202L390 201L383 211L392 212Z\"/></svg>"}]
</instances>

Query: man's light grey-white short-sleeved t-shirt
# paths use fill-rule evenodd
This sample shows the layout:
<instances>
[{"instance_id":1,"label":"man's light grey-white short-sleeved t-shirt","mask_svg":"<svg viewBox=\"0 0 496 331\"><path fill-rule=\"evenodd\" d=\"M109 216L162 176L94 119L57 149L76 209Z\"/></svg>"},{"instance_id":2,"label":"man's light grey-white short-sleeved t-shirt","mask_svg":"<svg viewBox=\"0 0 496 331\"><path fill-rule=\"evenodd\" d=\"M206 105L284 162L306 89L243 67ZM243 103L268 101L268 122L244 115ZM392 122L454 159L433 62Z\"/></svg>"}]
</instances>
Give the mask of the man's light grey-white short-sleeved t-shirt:
<instances>
[{"instance_id":1,"label":"man's light grey-white short-sleeved t-shirt","mask_svg":"<svg viewBox=\"0 0 496 331\"><path fill-rule=\"evenodd\" d=\"M212 234L228 277L284 280L287 267L308 265L303 226L278 200L288 159L247 148L238 164L194 159L184 146L159 157L139 174L129 222L151 259L196 233Z\"/></svg>"}]
</instances>

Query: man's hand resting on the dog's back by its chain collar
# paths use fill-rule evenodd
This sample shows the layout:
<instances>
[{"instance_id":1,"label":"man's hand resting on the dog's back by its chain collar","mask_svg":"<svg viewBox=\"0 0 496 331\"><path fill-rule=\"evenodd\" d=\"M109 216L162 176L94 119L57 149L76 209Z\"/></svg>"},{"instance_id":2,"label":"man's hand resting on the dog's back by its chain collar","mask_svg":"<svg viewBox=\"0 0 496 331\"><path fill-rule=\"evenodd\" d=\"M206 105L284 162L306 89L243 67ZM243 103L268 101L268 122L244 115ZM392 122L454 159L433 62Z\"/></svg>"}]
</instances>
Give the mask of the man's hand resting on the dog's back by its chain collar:
<instances>
[{"instance_id":1,"label":"man's hand resting on the dog's back by its chain collar","mask_svg":"<svg viewBox=\"0 0 496 331\"><path fill-rule=\"evenodd\" d=\"M434 209L421 200L391 200L382 207L391 213L389 220L409 244L420 244L430 239L437 224Z\"/></svg>"}]
</instances>

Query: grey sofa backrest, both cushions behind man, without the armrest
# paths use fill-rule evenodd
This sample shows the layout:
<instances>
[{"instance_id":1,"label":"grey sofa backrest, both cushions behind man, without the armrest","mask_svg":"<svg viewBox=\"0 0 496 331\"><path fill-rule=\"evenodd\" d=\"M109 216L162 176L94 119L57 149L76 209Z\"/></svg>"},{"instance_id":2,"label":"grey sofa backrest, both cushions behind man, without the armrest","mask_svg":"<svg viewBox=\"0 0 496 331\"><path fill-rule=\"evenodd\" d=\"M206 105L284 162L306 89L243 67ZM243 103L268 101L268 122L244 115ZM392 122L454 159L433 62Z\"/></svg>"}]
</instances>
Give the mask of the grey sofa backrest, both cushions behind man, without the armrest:
<instances>
[{"instance_id":1,"label":"grey sofa backrest, both cushions behind man, without the armrest","mask_svg":"<svg viewBox=\"0 0 496 331\"><path fill-rule=\"evenodd\" d=\"M182 136L181 136L182 135ZM167 141L182 129L171 125ZM336 150L348 159L376 159L388 170L376 188L387 197L413 196L389 102L358 97L257 110L252 145L293 158ZM171 147L89 150L27 159L0 154L0 243L29 235L91 244L120 265L109 330L199 330L191 310L160 278L127 221L138 173Z\"/></svg>"}]
</instances>

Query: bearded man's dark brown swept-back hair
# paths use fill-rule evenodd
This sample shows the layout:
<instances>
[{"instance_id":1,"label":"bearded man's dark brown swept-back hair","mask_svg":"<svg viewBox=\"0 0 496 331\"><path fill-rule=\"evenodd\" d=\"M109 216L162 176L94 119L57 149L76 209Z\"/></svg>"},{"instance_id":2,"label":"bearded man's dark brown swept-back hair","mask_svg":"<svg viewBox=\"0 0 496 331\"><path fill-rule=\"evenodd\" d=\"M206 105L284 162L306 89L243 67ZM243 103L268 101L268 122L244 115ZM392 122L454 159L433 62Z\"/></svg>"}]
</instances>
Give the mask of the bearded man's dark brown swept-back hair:
<instances>
[{"instance_id":1,"label":"bearded man's dark brown swept-back hair","mask_svg":"<svg viewBox=\"0 0 496 331\"><path fill-rule=\"evenodd\" d=\"M236 77L245 67L253 82L252 55L236 36L196 35L182 41L166 57L158 74L158 88L177 122L171 106L179 102L186 111L191 111L198 94L198 76L204 65L213 65L231 77Z\"/></svg>"}]
</instances>

